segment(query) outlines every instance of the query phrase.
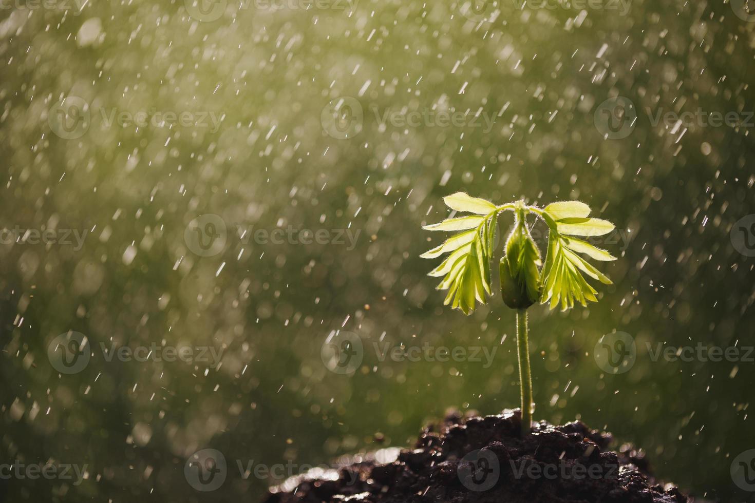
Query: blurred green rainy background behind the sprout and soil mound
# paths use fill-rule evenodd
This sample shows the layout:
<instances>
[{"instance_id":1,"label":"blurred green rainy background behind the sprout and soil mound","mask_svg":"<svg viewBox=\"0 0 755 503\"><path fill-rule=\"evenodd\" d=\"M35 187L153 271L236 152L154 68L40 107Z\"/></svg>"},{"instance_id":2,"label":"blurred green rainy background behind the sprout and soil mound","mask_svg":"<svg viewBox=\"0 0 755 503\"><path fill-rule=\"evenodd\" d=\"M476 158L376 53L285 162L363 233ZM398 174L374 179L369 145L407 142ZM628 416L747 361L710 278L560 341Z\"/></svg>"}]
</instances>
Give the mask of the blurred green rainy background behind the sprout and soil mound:
<instances>
[{"instance_id":1,"label":"blurred green rainy background behind the sprout and soil mound","mask_svg":"<svg viewBox=\"0 0 755 503\"><path fill-rule=\"evenodd\" d=\"M513 311L498 295L470 317L451 311L426 277L437 261L418 258L442 238L421 225L464 191L498 204L579 198L621 231L605 244L620 258L599 265L615 284L598 304L530 310L535 418L606 428L664 480L753 501L729 468L755 448L755 364L653 361L646 342L752 344L755 259L730 233L753 213L753 119L653 117L699 107L747 119L755 23L743 2L507 1L4 4L0 463L87 469L77 485L0 480L0 498L257 501L276 480L244 478L237 461L297 473L405 446L449 408L518 406ZM596 112L617 96L636 120L606 137ZM334 106L352 113L345 129L329 122ZM463 119L439 124L437 112ZM201 256L190 236L206 214L227 232ZM289 225L328 242L238 233ZM8 238L19 228L57 239ZM66 375L48 345L69 330L93 354ZM321 357L334 330L363 342L353 376ZM637 348L615 376L593 358L613 331ZM100 351L153 342L222 350L222 364ZM381 360L374 342L496 352L487 367ZM205 448L229 465L214 492L184 477Z\"/></svg>"}]
</instances>

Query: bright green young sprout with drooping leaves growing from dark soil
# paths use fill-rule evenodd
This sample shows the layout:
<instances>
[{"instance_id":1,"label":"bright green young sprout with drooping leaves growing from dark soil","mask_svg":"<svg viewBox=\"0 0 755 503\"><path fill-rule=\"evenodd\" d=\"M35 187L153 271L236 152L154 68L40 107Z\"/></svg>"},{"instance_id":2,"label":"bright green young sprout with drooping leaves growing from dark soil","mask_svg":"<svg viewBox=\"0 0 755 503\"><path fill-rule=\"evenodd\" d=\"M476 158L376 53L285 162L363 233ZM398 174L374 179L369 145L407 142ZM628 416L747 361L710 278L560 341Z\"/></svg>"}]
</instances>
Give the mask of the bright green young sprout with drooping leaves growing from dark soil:
<instances>
[{"instance_id":1,"label":"bright green young sprout with drooping leaves growing from dark soil","mask_svg":"<svg viewBox=\"0 0 755 503\"><path fill-rule=\"evenodd\" d=\"M590 265L580 254L600 261L615 260L601 250L574 236L591 237L608 234L614 225L607 220L590 218L590 207L580 201L560 201L544 208L528 206L524 201L496 206L490 201L456 192L443 198L446 206L464 216L445 219L426 225L428 231L455 232L439 247L423 253L424 259L434 259L450 253L428 275L443 278L437 290L448 290L443 302L452 308L472 314L476 302L485 304L492 296L490 262L498 215L513 211L514 225L506 240L504 256L498 265L501 277L501 296L504 303L516 309L516 349L519 354L519 385L522 395L522 435L532 429L532 373L529 367L529 327L527 308L540 302L550 302L550 308L561 310L574 303L587 305L597 302L597 291L587 283L585 275L611 284L611 280ZM527 216L533 213L548 226L548 249L545 262L527 227Z\"/></svg>"}]
</instances>

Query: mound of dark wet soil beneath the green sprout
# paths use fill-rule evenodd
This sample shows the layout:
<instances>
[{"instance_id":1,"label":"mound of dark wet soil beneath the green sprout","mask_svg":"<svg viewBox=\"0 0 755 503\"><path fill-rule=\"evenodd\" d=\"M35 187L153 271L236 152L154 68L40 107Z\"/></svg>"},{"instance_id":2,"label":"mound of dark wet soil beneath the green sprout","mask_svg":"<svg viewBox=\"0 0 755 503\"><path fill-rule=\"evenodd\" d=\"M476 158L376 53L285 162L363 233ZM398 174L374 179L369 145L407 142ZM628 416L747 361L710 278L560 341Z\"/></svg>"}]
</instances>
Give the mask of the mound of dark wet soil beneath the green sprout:
<instances>
[{"instance_id":1,"label":"mound of dark wet soil beneath the green sprout","mask_svg":"<svg viewBox=\"0 0 755 503\"><path fill-rule=\"evenodd\" d=\"M656 483L643 452L609 450L612 436L582 422L539 422L520 434L519 410L452 413L422 431L414 449L353 456L270 489L265 503L687 503Z\"/></svg>"}]
</instances>

